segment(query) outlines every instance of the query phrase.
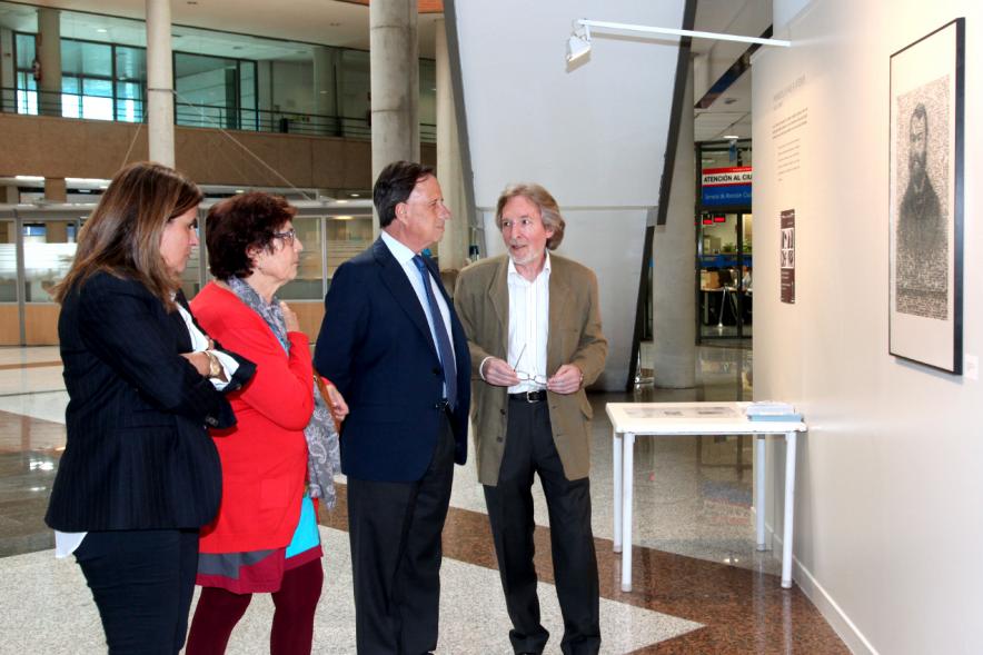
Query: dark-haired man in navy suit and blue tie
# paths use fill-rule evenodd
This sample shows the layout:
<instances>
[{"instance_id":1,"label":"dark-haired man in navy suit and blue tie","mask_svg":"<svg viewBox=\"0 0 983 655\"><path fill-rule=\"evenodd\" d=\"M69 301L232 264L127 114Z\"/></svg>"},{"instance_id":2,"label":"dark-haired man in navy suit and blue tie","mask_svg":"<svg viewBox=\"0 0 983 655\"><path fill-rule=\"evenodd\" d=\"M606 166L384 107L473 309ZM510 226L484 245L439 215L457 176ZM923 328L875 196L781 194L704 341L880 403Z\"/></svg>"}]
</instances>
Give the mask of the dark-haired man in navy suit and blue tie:
<instances>
[{"instance_id":1,"label":"dark-haired man in navy suit and blue tie","mask_svg":"<svg viewBox=\"0 0 983 655\"><path fill-rule=\"evenodd\" d=\"M373 189L383 234L338 267L315 368L348 400L341 469L363 654L437 646L440 533L467 456L467 340L420 251L450 212L430 167L397 161Z\"/></svg>"}]
</instances>

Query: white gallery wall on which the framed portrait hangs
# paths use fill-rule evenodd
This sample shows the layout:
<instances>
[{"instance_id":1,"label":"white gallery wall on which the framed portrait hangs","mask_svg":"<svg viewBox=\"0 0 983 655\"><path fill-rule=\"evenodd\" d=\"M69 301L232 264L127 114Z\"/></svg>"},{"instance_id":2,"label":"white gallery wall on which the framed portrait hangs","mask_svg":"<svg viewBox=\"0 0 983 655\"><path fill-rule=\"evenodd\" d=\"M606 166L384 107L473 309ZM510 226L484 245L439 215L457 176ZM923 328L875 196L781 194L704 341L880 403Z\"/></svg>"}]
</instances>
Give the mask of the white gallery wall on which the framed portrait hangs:
<instances>
[{"instance_id":1,"label":"white gallery wall on which the framed portrait hangs","mask_svg":"<svg viewBox=\"0 0 983 655\"><path fill-rule=\"evenodd\" d=\"M888 355L890 56L966 18L964 353L983 354L983 6L775 0L754 59L755 398L794 403L795 579L855 653L983 653L983 387ZM780 212L795 210L795 304ZM781 489L784 448L771 447ZM781 529L777 507L768 524Z\"/></svg>"}]
</instances>

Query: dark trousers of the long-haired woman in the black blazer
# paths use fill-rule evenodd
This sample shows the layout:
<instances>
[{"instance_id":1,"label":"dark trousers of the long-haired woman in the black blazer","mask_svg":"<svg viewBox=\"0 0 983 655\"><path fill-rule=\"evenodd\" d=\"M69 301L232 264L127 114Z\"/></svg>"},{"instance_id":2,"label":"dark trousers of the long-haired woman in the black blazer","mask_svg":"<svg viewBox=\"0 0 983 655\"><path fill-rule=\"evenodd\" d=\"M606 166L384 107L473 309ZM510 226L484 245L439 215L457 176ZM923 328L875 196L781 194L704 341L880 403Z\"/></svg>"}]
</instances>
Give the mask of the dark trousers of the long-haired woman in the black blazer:
<instances>
[{"instance_id":1,"label":"dark trousers of the long-haired woman in the black blazer","mask_svg":"<svg viewBox=\"0 0 983 655\"><path fill-rule=\"evenodd\" d=\"M110 655L173 655L185 644L198 530L111 530L76 550Z\"/></svg>"}]
</instances>

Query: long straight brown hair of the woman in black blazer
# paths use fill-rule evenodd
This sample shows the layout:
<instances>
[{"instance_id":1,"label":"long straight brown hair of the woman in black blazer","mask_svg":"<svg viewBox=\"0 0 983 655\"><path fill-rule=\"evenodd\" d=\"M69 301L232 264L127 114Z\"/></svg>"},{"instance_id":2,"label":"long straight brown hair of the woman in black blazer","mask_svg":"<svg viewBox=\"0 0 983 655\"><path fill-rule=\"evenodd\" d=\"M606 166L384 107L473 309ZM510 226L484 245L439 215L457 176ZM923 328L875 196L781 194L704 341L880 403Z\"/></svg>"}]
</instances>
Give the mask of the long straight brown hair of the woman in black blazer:
<instances>
[{"instance_id":1,"label":"long straight brown hair of the woman in black blazer","mask_svg":"<svg viewBox=\"0 0 983 655\"><path fill-rule=\"evenodd\" d=\"M116 173L79 231L71 268L52 292L56 302L78 290L97 271L139 280L165 307L180 287L165 265L160 238L167 224L197 207L201 190L160 163L131 163Z\"/></svg>"}]
</instances>

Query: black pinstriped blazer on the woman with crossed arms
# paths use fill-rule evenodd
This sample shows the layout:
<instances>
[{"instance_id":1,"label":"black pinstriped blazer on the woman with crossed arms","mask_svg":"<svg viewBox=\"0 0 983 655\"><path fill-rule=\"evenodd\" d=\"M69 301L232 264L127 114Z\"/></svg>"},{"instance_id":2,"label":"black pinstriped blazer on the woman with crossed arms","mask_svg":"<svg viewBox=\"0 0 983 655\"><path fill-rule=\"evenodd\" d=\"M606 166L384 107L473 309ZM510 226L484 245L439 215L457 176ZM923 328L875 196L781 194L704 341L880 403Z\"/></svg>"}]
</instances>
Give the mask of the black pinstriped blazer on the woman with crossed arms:
<instances>
[{"instance_id":1,"label":"black pinstriped blazer on the woman with crossed arms","mask_svg":"<svg viewBox=\"0 0 983 655\"><path fill-rule=\"evenodd\" d=\"M66 296L58 336L68 440L48 525L88 532L211 520L221 469L207 427L236 418L222 393L180 356L191 350L180 314L139 281L97 272ZM235 357L240 366L226 391L256 371Z\"/></svg>"}]
</instances>

